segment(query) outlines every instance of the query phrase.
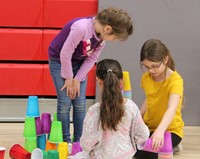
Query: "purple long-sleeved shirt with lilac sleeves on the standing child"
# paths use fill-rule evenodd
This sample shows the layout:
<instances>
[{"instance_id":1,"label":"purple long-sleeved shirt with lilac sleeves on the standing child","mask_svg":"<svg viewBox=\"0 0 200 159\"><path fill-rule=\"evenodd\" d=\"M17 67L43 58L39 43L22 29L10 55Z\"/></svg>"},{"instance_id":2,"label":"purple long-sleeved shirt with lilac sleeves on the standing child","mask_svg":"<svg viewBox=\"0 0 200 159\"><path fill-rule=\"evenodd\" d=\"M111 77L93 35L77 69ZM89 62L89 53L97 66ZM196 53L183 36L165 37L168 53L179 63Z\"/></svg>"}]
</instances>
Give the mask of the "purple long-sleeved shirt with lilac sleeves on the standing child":
<instances>
[{"instance_id":1,"label":"purple long-sleeved shirt with lilac sleeves on the standing child","mask_svg":"<svg viewBox=\"0 0 200 159\"><path fill-rule=\"evenodd\" d=\"M73 78L72 66L82 63L76 78L84 80L97 62L105 42L101 41L94 29L94 18L84 17L71 20L49 46L49 58L61 62L61 77Z\"/></svg>"}]
</instances>

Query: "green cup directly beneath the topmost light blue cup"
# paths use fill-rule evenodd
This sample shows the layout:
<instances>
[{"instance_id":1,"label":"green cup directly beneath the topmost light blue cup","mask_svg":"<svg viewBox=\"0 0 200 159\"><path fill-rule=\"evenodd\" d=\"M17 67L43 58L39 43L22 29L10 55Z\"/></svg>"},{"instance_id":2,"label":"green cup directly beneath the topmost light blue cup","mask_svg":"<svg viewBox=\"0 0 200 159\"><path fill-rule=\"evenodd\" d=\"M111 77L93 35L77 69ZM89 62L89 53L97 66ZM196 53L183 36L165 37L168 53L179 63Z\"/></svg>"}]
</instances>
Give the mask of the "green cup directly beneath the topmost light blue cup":
<instances>
[{"instance_id":1,"label":"green cup directly beneath the topmost light blue cup","mask_svg":"<svg viewBox=\"0 0 200 159\"><path fill-rule=\"evenodd\" d=\"M24 124L24 137L36 137L36 126L34 117L26 117Z\"/></svg>"}]
</instances>

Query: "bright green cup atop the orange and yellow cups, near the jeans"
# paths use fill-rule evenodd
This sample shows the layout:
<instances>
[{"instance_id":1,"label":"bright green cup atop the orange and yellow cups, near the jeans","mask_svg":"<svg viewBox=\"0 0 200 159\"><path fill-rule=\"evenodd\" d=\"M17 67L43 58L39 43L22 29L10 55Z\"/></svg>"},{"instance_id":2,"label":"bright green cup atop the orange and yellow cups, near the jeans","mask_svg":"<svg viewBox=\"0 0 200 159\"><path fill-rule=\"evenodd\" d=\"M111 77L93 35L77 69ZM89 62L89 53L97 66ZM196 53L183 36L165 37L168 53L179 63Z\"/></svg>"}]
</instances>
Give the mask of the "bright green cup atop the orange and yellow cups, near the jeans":
<instances>
[{"instance_id":1,"label":"bright green cup atop the orange and yellow cups, near the jeans","mask_svg":"<svg viewBox=\"0 0 200 159\"><path fill-rule=\"evenodd\" d=\"M61 121L53 121L49 141L53 143L63 142L62 123Z\"/></svg>"}]
</instances>

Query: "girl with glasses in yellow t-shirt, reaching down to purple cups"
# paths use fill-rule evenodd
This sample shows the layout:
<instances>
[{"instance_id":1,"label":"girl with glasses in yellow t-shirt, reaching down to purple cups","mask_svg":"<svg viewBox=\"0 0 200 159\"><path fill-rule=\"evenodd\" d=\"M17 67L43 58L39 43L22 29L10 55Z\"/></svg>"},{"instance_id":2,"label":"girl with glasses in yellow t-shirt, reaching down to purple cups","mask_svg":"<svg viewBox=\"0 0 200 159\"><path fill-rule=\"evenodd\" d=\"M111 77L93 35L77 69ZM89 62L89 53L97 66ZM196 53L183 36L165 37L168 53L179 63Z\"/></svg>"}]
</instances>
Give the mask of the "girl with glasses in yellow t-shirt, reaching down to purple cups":
<instances>
[{"instance_id":1,"label":"girl with glasses in yellow t-shirt, reaching down to purple cups","mask_svg":"<svg viewBox=\"0 0 200 159\"><path fill-rule=\"evenodd\" d=\"M140 62L144 71L141 86L146 95L140 111L151 132L153 149L163 146L165 131L172 133L172 145L175 147L183 137L183 79L175 70L170 51L160 40L150 39L144 43ZM157 159L158 154L138 151L134 157Z\"/></svg>"}]
</instances>

